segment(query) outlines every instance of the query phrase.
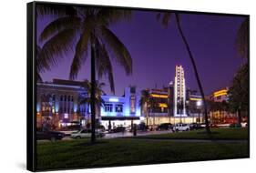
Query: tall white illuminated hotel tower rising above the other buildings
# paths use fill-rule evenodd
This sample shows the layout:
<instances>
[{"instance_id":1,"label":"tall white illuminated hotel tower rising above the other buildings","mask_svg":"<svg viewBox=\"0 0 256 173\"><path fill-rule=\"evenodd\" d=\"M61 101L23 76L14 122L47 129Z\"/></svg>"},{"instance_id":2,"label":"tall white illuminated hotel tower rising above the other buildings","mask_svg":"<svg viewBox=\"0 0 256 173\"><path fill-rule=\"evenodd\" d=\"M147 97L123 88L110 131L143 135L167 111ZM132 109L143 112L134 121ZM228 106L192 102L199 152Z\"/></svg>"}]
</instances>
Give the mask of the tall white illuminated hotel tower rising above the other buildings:
<instances>
[{"instance_id":1,"label":"tall white illuminated hotel tower rising above the other buildings","mask_svg":"<svg viewBox=\"0 0 256 173\"><path fill-rule=\"evenodd\" d=\"M186 117L186 86L184 69L182 66L175 66L174 78L174 117Z\"/></svg>"}]
</instances>

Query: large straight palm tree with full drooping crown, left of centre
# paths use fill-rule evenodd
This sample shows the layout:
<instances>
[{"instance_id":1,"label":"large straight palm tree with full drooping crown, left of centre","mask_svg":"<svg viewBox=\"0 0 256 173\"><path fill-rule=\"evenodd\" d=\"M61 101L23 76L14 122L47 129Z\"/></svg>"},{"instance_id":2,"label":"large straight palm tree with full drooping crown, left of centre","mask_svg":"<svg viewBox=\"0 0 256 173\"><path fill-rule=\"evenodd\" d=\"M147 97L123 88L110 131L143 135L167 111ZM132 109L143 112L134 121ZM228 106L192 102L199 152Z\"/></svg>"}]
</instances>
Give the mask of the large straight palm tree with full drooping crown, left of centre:
<instances>
[{"instance_id":1,"label":"large straight palm tree with full drooping crown, left of centre","mask_svg":"<svg viewBox=\"0 0 256 173\"><path fill-rule=\"evenodd\" d=\"M69 73L69 78L75 79L81 66L87 61L90 51L91 142L94 143L96 141L96 71L98 78L108 76L113 93L115 87L111 60L123 66L127 75L132 73L132 59L128 49L109 29L109 25L128 18L131 13L129 10L110 8L74 7L73 9L72 15L58 14L56 20L46 25L39 38L41 42L45 42L40 56L51 66L55 66L75 45L75 55Z\"/></svg>"}]
</instances>

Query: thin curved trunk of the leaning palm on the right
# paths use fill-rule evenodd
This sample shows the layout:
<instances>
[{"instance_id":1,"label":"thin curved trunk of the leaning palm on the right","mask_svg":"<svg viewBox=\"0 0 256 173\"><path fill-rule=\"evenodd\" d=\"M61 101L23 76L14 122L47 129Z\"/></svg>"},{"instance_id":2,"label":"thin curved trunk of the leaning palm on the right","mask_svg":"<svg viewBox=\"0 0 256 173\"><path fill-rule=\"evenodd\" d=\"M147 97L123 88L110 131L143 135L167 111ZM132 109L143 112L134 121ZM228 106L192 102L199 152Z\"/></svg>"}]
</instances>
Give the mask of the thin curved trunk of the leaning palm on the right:
<instances>
[{"instance_id":1,"label":"thin curved trunk of the leaning palm on the right","mask_svg":"<svg viewBox=\"0 0 256 173\"><path fill-rule=\"evenodd\" d=\"M206 105L206 100L205 100L205 97L204 97L204 92L203 92L203 89L202 89L202 86L201 86L201 83L200 83L200 76L199 76L199 73L198 73L198 70L197 70L197 66L196 66L195 60L194 60L194 58L192 56L192 53L190 51L187 39L186 39L186 37L184 36L184 34L182 32L182 29L181 29L181 26L180 26L180 23L179 23L179 16L177 14L175 14L175 18L176 18L178 29L179 29L179 34L182 37L182 40L183 40L183 42L184 42L184 44L186 46L186 49L187 49L187 51L189 53L189 58L191 60L192 66L194 68L194 72L195 72L195 76L196 76L198 85L200 87L200 95L202 97L203 107L204 107L205 127L206 127L207 133L210 134L210 127L209 127L208 114L207 114L207 105Z\"/></svg>"}]
</instances>

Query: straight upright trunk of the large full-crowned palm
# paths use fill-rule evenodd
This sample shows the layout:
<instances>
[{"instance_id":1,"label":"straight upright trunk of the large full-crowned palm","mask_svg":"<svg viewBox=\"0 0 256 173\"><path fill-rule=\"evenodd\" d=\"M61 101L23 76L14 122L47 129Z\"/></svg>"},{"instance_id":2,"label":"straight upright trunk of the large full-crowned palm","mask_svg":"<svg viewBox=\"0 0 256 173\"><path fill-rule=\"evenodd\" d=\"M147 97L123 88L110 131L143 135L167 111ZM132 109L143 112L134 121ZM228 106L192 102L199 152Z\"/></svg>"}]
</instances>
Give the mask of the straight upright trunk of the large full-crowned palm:
<instances>
[{"instance_id":1,"label":"straight upright trunk of the large full-crowned palm","mask_svg":"<svg viewBox=\"0 0 256 173\"><path fill-rule=\"evenodd\" d=\"M91 142L95 143L96 141L96 109L95 109L95 94L96 94L96 73L95 73L95 37L94 34L92 35L91 38Z\"/></svg>"}]
</instances>

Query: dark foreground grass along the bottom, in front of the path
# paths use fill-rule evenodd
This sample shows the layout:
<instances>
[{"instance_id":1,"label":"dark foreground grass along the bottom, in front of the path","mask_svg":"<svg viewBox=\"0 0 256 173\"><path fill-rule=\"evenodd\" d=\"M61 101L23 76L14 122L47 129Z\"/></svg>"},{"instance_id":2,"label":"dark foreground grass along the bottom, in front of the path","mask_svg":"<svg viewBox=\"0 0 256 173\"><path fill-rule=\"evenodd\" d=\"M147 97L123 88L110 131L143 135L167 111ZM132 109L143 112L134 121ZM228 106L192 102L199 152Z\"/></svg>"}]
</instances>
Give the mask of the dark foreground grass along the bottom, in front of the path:
<instances>
[{"instance_id":1,"label":"dark foreground grass along the bottom, in front of the path","mask_svg":"<svg viewBox=\"0 0 256 173\"><path fill-rule=\"evenodd\" d=\"M37 144L37 168L92 168L248 158L247 142L174 142L152 139L88 139Z\"/></svg>"}]
</instances>

